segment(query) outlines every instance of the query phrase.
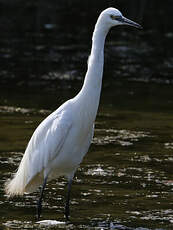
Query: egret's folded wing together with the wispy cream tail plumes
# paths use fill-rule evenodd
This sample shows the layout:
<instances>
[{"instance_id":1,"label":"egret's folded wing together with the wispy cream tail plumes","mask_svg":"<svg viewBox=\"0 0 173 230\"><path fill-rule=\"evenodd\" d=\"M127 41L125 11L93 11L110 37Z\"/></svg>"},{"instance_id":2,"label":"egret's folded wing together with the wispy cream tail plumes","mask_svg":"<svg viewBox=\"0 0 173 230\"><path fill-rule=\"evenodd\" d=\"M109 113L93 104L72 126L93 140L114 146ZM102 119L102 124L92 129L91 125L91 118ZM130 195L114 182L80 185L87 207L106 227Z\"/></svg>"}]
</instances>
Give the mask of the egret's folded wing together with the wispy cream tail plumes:
<instances>
[{"instance_id":1,"label":"egret's folded wing together with the wispy cream tail plumes","mask_svg":"<svg viewBox=\"0 0 173 230\"><path fill-rule=\"evenodd\" d=\"M71 116L59 109L49 115L33 133L19 168L5 185L10 196L33 192L42 184L44 169L59 153L72 126Z\"/></svg>"}]
</instances>

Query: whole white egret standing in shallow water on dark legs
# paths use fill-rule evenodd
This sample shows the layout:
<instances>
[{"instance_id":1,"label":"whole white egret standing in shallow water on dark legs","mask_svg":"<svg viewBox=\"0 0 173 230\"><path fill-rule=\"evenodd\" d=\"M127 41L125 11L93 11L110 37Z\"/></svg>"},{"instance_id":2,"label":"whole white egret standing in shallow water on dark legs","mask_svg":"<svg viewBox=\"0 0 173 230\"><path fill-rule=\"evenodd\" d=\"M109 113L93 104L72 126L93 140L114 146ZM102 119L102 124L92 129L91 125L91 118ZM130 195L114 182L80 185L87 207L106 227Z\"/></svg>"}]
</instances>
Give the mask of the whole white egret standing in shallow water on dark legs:
<instances>
[{"instance_id":1,"label":"whole white egret standing in shallow water on dark legs","mask_svg":"<svg viewBox=\"0 0 173 230\"><path fill-rule=\"evenodd\" d=\"M65 216L69 220L74 173L87 153L94 133L102 85L105 38L110 28L117 25L141 28L115 8L108 8L100 14L92 37L91 55L82 89L41 122L28 143L13 179L5 185L9 196L30 193L42 185L37 206L38 219L47 181L65 176L68 179Z\"/></svg>"}]
</instances>

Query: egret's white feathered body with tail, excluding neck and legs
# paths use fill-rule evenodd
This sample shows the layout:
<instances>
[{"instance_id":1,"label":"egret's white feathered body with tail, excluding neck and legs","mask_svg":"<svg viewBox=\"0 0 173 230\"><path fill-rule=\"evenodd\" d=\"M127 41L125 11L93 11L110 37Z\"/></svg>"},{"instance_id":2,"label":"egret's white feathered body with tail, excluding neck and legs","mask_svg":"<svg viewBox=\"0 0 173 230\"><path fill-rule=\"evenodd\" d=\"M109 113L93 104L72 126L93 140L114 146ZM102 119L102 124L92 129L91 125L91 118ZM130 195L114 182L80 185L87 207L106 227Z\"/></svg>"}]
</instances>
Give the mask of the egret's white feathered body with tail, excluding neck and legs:
<instances>
[{"instance_id":1,"label":"egret's white feathered body with tail, excluding neck and legs","mask_svg":"<svg viewBox=\"0 0 173 230\"><path fill-rule=\"evenodd\" d=\"M93 121L81 122L81 117L89 117L88 111L78 110L77 104L76 100L67 101L38 126L17 173L7 184L7 193L33 192L47 175L48 180L62 175L73 178L93 136Z\"/></svg>"}]
</instances>

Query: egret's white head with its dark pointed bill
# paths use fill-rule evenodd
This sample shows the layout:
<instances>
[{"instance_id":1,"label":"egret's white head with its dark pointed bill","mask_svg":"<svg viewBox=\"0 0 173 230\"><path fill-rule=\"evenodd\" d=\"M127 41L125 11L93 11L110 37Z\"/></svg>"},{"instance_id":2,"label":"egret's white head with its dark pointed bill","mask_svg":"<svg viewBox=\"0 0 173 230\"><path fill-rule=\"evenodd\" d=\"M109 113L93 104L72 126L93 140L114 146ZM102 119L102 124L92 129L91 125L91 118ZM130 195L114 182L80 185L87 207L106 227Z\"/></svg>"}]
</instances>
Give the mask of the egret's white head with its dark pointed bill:
<instances>
[{"instance_id":1,"label":"egret's white head with its dark pointed bill","mask_svg":"<svg viewBox=\"0 0 173 230\"><path fill-rule=\"evenodd\" d=\"M142 29L142 26L140 26L138 23L125 18L119 10L112 7L104 10L101 13L101 18L103 18L103 20L106 22L106 24L108 24L109 27L128 25Z\"/></svg>"}]
</instances>

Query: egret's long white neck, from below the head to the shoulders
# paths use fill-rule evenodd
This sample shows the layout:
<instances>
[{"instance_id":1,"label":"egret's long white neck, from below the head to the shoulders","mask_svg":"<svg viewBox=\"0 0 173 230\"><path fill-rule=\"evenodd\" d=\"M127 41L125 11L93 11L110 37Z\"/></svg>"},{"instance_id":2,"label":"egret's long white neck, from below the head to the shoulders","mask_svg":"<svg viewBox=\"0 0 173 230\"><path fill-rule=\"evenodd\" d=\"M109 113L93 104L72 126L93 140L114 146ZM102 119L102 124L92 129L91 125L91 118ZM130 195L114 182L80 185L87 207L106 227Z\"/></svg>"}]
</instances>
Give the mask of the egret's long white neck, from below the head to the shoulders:
<instances>
[{"instance_id":1,"label":"egret's long white neck, from below the head to the shoulders","mask_svg":"<svg viewBox=\"0 0 173 230\"><path fill-rule=\"evenodd\" d=\"M102 20L97 21L93 37L91 55L88 60L88 70L85 76L84 84L77 95L82 101L81 104L90 112L93 119L95 119L102 86L102 75L104 66L104 44L105 38L109 31Z\"/></svg>"}]
</instances>

